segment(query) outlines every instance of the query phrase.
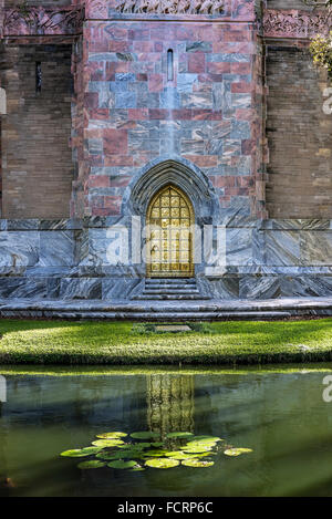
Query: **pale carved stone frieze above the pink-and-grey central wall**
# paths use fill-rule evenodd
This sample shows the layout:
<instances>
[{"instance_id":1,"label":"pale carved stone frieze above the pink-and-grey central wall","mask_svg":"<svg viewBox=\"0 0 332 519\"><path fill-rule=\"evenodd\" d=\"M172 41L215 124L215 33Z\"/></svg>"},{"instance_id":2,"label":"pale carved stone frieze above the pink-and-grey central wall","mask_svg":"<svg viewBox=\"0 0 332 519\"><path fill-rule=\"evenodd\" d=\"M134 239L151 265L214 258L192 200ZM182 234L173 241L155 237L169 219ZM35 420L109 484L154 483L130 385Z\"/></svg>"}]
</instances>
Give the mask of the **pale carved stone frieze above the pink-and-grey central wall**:
<instances>
[{"instance_id":1,"label":"pale carved stone frieze above the pink-and-grey central wall","mask_svg":"<svg viewBox=\"0 0 332 519\"><path fill-rule=\"evenodd\" d=\"M225 0L118 0L116 11L148 14L221 14Z\"/></svg>"}]
</instances>

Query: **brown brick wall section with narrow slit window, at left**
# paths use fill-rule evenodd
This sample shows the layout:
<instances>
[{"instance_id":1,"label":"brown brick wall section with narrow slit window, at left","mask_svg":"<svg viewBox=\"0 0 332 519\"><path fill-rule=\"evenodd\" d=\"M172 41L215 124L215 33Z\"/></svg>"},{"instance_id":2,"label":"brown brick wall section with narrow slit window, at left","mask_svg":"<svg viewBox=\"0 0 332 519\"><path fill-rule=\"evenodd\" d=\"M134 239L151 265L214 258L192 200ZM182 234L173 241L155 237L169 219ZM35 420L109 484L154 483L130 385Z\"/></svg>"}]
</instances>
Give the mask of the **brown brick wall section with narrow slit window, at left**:
<instances>
[{"instance_id":1,"label":"brown brick wall section with narrow slit window, at left","mask_svg":"<svg viewBox=\"0 0 332 519\"><path fill-rule=\"evenodd\" d=\"M42 66L40 93L35 62ZM68 217L73 168L71 45L7 46L2 63L8 96L2 121L2 217Z\"/></svg>"}]
</instances>

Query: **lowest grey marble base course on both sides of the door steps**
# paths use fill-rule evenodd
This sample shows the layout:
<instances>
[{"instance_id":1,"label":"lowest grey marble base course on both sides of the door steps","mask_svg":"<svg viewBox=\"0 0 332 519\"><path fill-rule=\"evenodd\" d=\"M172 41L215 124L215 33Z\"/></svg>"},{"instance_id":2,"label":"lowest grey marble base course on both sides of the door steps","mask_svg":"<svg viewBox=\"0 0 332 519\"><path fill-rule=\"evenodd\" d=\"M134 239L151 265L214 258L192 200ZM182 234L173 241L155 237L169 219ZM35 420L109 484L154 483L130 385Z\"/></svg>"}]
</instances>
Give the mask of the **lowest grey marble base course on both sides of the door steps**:
<instances>
[{"instance_id":1,"label":"lowest grey marble base course on both sides of the door steps","mask_svg":"<svg viewBox=\"0 0 332 519\"><path fill-rule=\"evenodd\" d=\"M332 276L225 274L200 279L203 295L211 299L278 299L331 297ZM141 278L0 278L1 299L128 300L144 287Z\"/></svg>"}]
</instances>

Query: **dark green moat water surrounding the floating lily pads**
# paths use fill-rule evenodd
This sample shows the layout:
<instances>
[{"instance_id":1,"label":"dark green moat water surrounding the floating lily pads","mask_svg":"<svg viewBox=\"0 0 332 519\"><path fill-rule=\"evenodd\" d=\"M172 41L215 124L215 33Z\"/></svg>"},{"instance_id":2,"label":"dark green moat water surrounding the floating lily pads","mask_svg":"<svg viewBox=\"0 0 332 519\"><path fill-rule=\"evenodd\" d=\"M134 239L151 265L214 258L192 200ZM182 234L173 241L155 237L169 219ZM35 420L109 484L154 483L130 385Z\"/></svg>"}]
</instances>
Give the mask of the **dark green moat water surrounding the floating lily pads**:
<instances>
[{"instance_id":1,"label":"dark green moat water surrounding the floating lily pads","mask_svg":"<svg viewBox=\"0 0 332 519\"><path fill-rule=\"evenodd\" d=\"M329 374L328 364L0 367L0 496L332 496L332 403L322 396ZM82 470L86 458L60 456L112 430L154 430L162 439L183 430L225 443L208 468ZM228 457L227 447L252 453Z\"/></svg>"}]
</instances>

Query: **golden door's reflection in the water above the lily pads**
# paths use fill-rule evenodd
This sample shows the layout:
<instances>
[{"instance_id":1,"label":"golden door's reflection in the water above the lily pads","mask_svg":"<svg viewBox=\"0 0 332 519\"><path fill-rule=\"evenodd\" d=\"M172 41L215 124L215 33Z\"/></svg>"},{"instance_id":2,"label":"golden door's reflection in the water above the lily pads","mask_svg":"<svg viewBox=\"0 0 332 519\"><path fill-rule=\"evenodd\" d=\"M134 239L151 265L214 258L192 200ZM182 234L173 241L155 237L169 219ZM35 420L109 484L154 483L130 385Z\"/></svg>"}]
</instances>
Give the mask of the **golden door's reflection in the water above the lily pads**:
<instances>
[{"instance_id":1,"label":"golden door's reflection in the water above the lily pads","mask_svg":"<svg viewBox=\"0 0 332 519\"><path fill-rule=\"evenodd\" d=\"M147 425L164 436L172 432L194 433L194 376L147 376Z\"/></svg>"}]
</instances>

